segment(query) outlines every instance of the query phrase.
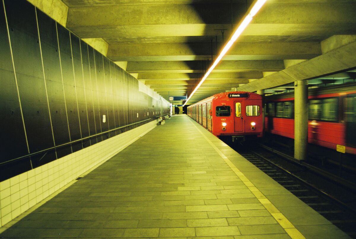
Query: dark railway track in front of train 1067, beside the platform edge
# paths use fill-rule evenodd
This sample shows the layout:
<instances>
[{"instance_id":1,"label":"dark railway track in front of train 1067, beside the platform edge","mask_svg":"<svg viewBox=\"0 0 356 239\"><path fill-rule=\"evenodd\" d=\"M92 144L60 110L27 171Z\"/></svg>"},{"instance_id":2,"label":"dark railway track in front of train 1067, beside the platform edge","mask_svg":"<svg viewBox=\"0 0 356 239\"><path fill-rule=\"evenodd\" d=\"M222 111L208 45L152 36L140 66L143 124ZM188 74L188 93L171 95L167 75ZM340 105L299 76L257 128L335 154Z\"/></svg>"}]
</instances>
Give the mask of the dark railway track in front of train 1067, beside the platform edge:
<instances>
[{"instance_id":1,"label":"dark railway track in front of train 1067, beside the platform edge","mask_svg":"<svg viewBox=\"0 0 356 239\"><path fill-rule=\"evenodd\" d=\"M339 183L262 148L251 151L235 147L235 150L336 227L356 238L354 190L340 187Z\"/></svg>"}]
</instances>

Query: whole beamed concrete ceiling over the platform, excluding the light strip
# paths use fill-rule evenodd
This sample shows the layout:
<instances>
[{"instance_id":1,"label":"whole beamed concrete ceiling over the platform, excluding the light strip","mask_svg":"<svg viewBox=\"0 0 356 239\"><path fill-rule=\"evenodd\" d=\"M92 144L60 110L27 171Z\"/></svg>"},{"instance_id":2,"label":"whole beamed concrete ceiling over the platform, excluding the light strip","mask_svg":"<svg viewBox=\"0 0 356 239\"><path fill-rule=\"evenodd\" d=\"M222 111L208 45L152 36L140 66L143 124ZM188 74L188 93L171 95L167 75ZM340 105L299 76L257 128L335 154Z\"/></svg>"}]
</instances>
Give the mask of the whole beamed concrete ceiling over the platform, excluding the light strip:
<instances>
[{"instance_id":1,"label":"whole beamed concrete ceiling over the platform, excluding the light strip","mask_svg":"<svg viewBox=\"0 0 356 239\"><path fill-rule=\"evenodd\" d=\"M68 29L100 40L109 59L167 100L189 96L252 3L62 1ZM189 104L231 88L256 91L356 67L355 12L356 0L267 0Z\"/></svg>"}]
</instances>

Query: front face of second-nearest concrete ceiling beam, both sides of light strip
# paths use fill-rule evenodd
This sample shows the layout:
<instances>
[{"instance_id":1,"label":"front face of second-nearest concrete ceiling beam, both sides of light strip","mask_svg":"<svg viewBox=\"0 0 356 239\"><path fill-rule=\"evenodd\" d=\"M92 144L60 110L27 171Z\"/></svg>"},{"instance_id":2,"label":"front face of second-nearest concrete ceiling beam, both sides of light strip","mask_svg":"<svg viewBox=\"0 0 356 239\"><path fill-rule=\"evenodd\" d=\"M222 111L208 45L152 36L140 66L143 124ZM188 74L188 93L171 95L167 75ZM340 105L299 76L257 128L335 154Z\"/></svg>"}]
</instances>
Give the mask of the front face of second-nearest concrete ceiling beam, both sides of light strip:
<instances>
[{"instance_id":1,"label":"front face of second-nearest concrete ceiling beam, both sides of light strip","mask_svg":"<svg viewBox=\"0 0 356 239\"><path fill-rule=\"evenodd\" d=\"M192 61L211 58L210 44L109 45L113 61ZM321 54L319 42L236 43L223 60L311 59Z\"/></svg>"}]
</instances>

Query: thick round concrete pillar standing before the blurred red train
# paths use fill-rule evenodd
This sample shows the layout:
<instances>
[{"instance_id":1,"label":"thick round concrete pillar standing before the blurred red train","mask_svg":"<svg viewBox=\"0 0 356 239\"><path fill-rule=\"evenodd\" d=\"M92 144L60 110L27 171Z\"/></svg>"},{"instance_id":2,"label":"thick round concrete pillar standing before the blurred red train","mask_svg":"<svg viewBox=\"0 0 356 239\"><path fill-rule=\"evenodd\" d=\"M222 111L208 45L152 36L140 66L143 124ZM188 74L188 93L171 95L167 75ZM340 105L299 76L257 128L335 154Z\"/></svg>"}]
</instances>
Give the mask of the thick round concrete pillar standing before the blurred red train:
<instances>
[{"instance_id":1,"label":"thick round concrete pillar standing before the blurred red train","mask_svg":"<svg viewBox=\"0 0 356 239\"><path fill-rule=\"evenodd\" d=\"M308 156L308 81L294 82L294 158Z\"/></svg>"}]
</instances>

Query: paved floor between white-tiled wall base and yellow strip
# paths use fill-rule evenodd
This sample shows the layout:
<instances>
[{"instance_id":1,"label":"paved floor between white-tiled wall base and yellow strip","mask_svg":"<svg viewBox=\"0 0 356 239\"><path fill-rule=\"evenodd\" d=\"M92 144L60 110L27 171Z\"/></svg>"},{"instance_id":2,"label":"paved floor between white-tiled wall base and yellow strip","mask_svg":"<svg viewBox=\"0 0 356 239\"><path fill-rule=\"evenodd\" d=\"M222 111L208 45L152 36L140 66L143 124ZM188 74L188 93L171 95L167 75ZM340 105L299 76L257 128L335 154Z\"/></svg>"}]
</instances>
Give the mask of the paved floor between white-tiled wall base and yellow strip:
<instances>
[{"instance_id":1,"label":"paved floor between white-tiled wall base and yellow strip","mask_svg":"<svg viewBox=\"0 0 356 239\"><path fill-rule=\"evenodd\" d=\"M215 238L253 233L245 221L267 217L253 217L258 210L238 211L231 205L245 203L244 209L249 209L259 201L249 189L240 189L245 184L198 131L189 132L189 139L182 136L187 131L180 127L189 124L189 130L193 128L188 118L184 122L173 133L168 123L158 126L16 224L12 236ZM185 141L187 150L182 150ZM163 146L157 149L159 144ZM230 199L229 190L250 193L239 191ZM245 197L257 202L246 203ZM239 220L240 216L244 218ZM255 234L285 238L287 234L276 234L269 229L271 222L267 223L261 226L265 232ZM240 233L236 225L241 224Z\"/></svg>"}]
</instances>

